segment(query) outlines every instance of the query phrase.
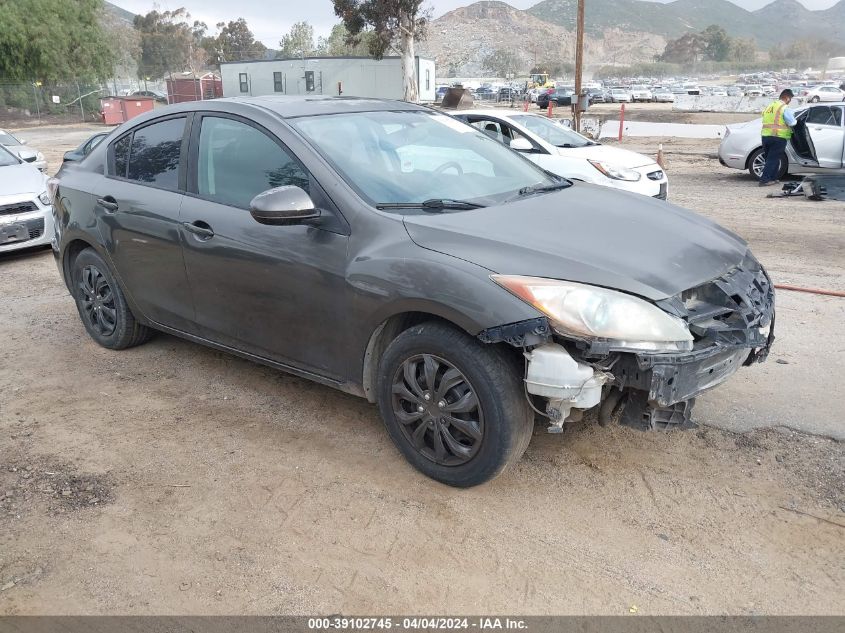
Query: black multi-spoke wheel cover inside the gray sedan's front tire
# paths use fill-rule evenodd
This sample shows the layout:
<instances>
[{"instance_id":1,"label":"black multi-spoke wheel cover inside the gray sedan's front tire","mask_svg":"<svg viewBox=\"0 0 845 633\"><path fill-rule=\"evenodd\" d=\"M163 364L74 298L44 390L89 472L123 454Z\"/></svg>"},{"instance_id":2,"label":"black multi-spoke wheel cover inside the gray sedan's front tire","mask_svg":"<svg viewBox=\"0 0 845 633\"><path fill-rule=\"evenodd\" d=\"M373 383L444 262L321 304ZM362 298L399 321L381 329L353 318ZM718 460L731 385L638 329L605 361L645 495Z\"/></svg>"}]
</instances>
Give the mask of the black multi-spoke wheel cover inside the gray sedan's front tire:
<instances>
[{"instance_id":1,"label":"black multi-spoke wheel cover inside the gray sedan's front tire","mask_svg":"<svg viewBox=\"0 0 845 633\"><path fill-rule=\"evenodd\" d=\"M408 358L393 378L393 414L417 451L436 464L471 460L484 437L484 413L469 380L433 354Z\"/></svg>"}]
</instances>

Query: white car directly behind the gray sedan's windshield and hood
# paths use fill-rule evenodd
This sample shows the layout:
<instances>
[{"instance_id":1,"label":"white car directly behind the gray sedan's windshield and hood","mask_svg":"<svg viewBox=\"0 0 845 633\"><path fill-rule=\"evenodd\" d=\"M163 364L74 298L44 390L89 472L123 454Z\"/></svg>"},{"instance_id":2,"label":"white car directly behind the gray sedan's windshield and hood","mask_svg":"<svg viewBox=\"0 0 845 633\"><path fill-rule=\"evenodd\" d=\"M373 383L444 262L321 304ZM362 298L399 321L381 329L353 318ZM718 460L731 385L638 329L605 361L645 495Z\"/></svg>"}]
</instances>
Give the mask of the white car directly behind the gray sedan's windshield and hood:
<instances>
[{"instance_id":1,"label":"white car directly behind the gray sedan's windshield and hood","mask_svg":"<svg viewBox=\"0 0 845 633\"><path fill-rule=\"evenodd\" d=\"M669 179L649 156L591 141L528 112L459 110L453 116L553 174L665 200Z\"/></svg>"}]
</instances>

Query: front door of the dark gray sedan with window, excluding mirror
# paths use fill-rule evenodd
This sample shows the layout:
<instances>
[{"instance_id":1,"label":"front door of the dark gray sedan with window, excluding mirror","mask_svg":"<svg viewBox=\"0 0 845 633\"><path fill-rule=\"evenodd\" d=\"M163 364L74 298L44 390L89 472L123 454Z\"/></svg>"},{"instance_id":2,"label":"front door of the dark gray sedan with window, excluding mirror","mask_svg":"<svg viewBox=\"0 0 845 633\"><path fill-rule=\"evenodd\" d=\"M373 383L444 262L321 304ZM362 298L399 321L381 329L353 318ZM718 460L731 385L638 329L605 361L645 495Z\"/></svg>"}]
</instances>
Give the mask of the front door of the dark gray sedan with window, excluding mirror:
<instances>
[{"instance_id":1,"label":"front door of the dark gray sedan with window, excluding mirror","mask_svg":"<svg viewBox=\"0 0 845 633\"><path fill-rule=\"evenodd\" d=\"M267 130L220 114L197 123L181 231L200 334L343 377L348 231L340 214ZM323 214L318 225L269 226L252 217L252 198L283 185L309 193Z\"/></svg>"}]
</instances>

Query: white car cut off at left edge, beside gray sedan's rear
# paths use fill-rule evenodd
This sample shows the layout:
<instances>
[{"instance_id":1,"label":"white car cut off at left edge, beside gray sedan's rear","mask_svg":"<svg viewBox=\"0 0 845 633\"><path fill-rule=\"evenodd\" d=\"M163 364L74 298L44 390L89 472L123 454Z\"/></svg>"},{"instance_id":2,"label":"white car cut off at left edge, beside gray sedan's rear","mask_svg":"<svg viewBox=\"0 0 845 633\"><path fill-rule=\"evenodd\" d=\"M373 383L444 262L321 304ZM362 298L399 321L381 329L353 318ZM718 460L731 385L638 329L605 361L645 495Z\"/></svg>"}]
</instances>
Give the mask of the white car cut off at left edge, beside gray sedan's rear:
<instances>
[{"instance_id":1,"label":"white car cut off at left edge, beside gray sedan's rear","mask_svg":"<svg viewBox=\"0 0 845 633\"><path fill-rule=\"evenodd\" d=\"M47 177L0 147L0 253L47 245L52 235Z\"/></svg>"}]
</instances>

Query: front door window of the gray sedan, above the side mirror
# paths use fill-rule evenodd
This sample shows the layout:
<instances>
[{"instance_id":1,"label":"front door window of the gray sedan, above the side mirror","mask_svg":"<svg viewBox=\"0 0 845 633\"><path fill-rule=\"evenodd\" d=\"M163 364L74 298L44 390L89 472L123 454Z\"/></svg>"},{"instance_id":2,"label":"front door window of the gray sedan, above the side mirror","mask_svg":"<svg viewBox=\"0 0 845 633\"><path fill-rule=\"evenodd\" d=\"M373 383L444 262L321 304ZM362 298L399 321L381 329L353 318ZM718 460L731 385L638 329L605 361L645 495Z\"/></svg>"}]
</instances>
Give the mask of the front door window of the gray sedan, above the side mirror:
<instances>
[{"instance_id":1,"label":"front door window of the gray sedan, above the side mirror","mask_svg":"<svg viewBox=\"0 0 845 633\"><path fill-rule=\"evenodd\" d=\"M204 116L197 162L197 193L244 209L262 191L293 185L308 191L309 176L276 141L251 125Z\"/></svg>"}]
</instances>

